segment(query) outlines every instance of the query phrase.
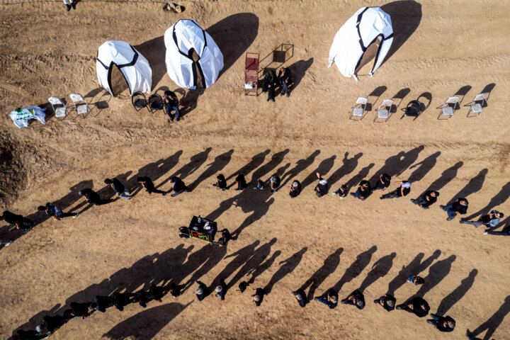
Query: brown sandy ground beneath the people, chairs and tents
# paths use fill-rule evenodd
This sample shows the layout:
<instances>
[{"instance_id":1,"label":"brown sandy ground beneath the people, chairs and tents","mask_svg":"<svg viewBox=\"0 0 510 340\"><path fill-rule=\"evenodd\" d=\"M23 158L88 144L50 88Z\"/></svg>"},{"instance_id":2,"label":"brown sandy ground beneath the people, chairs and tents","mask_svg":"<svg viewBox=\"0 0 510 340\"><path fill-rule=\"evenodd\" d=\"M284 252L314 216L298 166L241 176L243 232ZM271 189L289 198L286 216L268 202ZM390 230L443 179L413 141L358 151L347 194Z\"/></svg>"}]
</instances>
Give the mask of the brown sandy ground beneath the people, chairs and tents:
<instances>
[{"instance_id":1,"label":"brown sandy ground beneath the people, chairs and tents","mask_svg":"<svg viewBox=\"0 0 510 340\"><path fill-rule=\"evenodd\" d=\"M111 176L135 188L135 178L147 174L167 189L177 175L195 187L177 198L140 191L76 220L45 220L24 235L1 227L1 238L16 240L0 249L0 337L33 329L72 301L174 280L188 283L177 300L166 296L145 310L130 305L72 320L52 339L465 339L466 329L477 329L481 339L510 339L509 239L484 236L483 227L460 225L459 218L446 222L438 208L465 196L472 218L491 208L510 215L509 1L385 5L394 47L373 78L368 64L357 83L326 68L329 47L348 17L361 6L382 5L377 1L181 4L186 9L176 14L164 11L163 1L84 0L67 13L62 1L0 1L1 208L40 221L35 208L47 201L80 211L77 191L94 185L111 195L103 189ZM181 122L136 112L128 91L113 98L98 89L94 58L105 40L139 48L152 64L153 91L177 89L165 72L162 35L178 18L196 19L225 55L210 89L179 90ZM263 95L244 96L244 53L269 55L262 66L276 67L268 60L283 43L293 44L285 61L295 77L290 98L267 103ZM467 118L465 104L484 89L485 111ZM75 91L96 119L50 118L17 129L8 118L13 108ZM459 91L460 109L437 120L436 108ZM399 94L405 96L395 100L390 120L373 123L380 101ZM361 123L348 119L358 96L372 104ZM400 108L419 96L426 111L400 119ZM212 188L215 174L232 183L239 169L248 180L285 174L285 188L272 196ZM393 181L411 180L412 193L398 200L319 199L315 171L335 190L386 171ZM295 199L288 196L293 177L306 186ZM429 186L441 196L420 210L409 198ZM227 248L179 239L177 228L193 215L215 218L239 239ZM408 272L420 272L426 285L404 284ZM196 300L198 278L212 284L223 277L237 286L252 276L253 288L273 286L261 307L233 288L222 302ZM302 309L289 293L303 284L312 296L341 288L341 298L363 287L367 305L329 310L312 301ZM441 334L425 318L373 305L388 289L397 302L423 295L431 312L439 308L456 319L455 331Z\"/></svg>"}]
</instances>

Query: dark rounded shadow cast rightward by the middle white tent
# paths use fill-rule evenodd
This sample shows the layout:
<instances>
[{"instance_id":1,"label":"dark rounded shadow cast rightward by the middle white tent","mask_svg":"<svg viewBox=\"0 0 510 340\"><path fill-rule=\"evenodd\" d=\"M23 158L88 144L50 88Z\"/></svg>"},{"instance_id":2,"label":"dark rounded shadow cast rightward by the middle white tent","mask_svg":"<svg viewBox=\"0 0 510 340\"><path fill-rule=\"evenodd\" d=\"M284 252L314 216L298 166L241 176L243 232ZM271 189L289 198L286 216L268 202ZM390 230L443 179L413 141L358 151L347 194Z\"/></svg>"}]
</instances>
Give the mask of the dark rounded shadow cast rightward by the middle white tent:
<instances>
[{"instance_id":1,"label":"dark rounded shadow cast rightward by the middle white tent","mask_svg":"<svg viewBox=\"0 0 510 340\"><path fill-rule=\"evenodd\" d=\"M223 55L223 69L219 78L254 42L259 33L259 18L254 13L237 13L218 21L206 31Z\"/></svg>"}]
</instances>

